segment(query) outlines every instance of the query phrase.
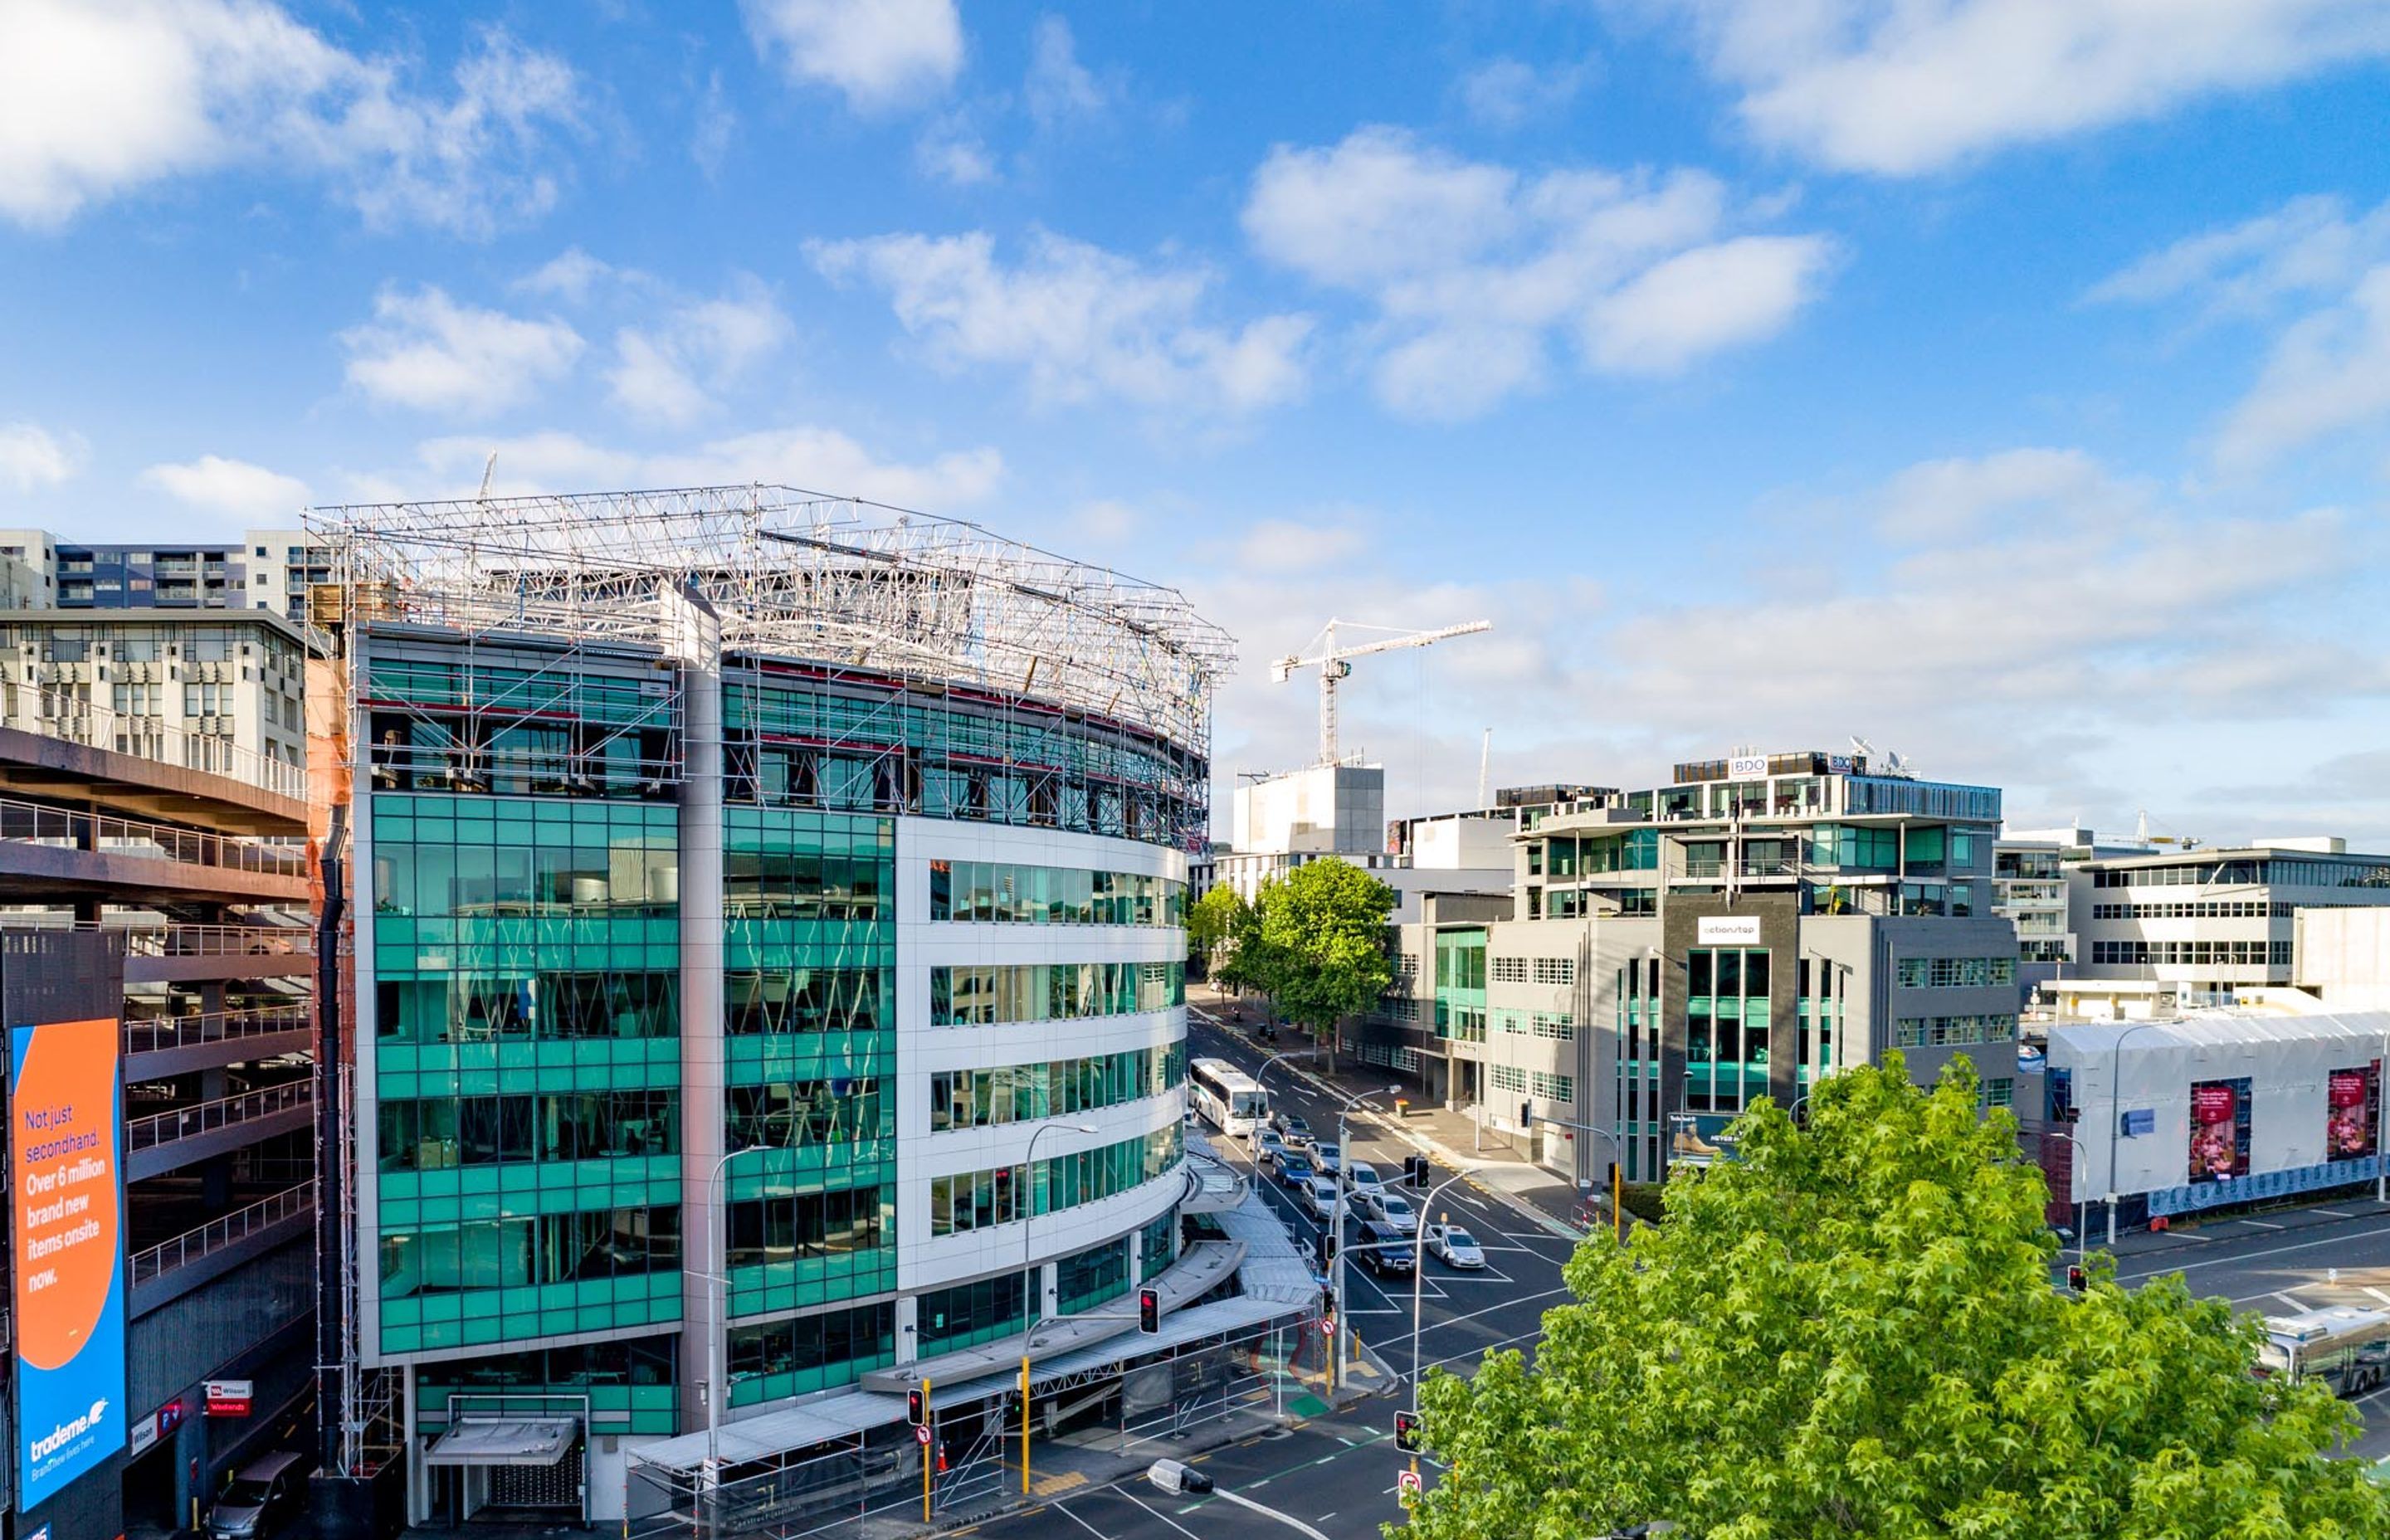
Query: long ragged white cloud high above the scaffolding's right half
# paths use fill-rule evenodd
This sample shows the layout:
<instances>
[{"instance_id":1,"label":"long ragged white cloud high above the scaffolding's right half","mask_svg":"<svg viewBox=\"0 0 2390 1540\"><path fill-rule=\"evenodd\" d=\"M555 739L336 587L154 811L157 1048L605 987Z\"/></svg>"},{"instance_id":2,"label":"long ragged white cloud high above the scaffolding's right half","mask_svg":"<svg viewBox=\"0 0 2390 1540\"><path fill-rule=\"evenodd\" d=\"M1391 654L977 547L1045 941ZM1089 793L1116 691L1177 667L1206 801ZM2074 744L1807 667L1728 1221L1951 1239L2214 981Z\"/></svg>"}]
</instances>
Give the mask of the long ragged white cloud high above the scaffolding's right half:
<instances>
[{"instance_id":1,"label":"long ragged white cloud high above the scaffolding's right half","mask_svg":"<svg viewBox=\"0 0 2390 1540\"><path fill-rule=\"evenodd\" d=\"M985 232L825 242L832 280L887 289L896 320L946 368L1004 363L1042 402L1121 399L1135 407L1236 416L1305 390L1305 316L1243 328L1200 320L1212 275L1145 268L1085 242L1035 232L1006 268Z\"/></svg>"}]
</instances>

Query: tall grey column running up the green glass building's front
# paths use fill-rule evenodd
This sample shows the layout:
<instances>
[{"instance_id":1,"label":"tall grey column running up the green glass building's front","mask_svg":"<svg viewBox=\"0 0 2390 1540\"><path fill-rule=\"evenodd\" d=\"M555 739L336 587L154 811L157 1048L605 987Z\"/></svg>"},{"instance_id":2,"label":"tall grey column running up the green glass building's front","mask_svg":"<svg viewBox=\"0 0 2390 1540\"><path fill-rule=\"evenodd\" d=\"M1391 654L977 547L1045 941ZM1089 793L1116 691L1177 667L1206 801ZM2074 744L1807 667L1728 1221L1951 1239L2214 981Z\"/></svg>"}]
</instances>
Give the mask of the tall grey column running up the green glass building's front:
<instances>
[{"instance_id":1,"label":"tall grey column running up the green glass building's front","mask_svg":"<svg viewBox=\"0 0 2390 1540\"><path fill-rule=\"evenodd\" d=\"M724 1236L722 1160L722 622L695 593L657 600L681 670L681 1425L729 1408L717 1301ZM724 1188L729 1177L724 1172ZM712 1277L707 1277L712 1275Z\"/></svg>"}]
</instances>

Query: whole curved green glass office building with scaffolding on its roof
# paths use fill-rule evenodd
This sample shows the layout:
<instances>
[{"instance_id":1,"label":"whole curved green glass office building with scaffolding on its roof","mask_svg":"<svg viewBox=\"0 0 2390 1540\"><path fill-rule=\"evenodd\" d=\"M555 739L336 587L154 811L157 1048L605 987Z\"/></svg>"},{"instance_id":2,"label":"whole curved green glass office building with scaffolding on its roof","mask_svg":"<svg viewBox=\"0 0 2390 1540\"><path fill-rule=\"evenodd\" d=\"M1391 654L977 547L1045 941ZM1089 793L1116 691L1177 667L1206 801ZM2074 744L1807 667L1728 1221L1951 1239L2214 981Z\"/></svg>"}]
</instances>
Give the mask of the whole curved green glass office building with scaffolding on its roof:
<instances>
[{"instance_id":1,"label":"whole curved green glass office building with scaffolding on its roof","mask_svg":"<svg viewBox=\"0 0 2390 1540\"><path fill-rule=\"evenodd\" d=\"M413 1518L617 1518L643 1444L1171 1265L1231 662L1178 593L774 488L318 528Z\"/></svg>"}]
</instances>

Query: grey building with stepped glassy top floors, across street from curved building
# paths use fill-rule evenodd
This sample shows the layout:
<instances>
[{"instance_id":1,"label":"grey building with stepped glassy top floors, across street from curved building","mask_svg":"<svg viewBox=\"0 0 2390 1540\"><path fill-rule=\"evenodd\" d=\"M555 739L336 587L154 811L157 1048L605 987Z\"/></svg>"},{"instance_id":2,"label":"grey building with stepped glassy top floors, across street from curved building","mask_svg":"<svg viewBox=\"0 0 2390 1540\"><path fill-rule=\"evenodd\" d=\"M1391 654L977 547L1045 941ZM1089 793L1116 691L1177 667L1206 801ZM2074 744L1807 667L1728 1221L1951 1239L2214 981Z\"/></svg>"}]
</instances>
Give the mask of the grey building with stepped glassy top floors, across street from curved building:
<instances>
[{"instance_id":1,"label":"grey building with stepped glassy top floors, across street from curved building","mask_svg":"<svg viewBox=\"0 0 2390 1540\"><path fill-rule=\"evenodd\" d=\"M1919 1081L1967 1055L2010 1102L1998 789L1754 753L1580 792L1520 806L1508 916L1439 906L1403 933L1386 1014L1434 1038L1408 1047L1448 1102L1556 1169L1616 1157L1637 1181L1709 1160L1759 1095L1795 1105L1895 1047Z\"/></svg>"}]
</instances>

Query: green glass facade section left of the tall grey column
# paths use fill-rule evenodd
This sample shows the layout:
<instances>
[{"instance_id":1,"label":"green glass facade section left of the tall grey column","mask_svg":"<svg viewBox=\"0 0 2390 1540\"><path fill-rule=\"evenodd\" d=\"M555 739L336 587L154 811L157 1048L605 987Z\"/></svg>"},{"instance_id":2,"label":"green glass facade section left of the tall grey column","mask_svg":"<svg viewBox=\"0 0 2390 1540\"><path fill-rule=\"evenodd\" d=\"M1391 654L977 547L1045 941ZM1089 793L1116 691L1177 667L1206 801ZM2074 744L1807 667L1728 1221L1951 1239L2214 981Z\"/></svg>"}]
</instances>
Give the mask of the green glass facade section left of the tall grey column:
<instances>
[{"instance_id":1,"label":"green glass facade section left of the tall grey column","mask_svg":"<svg viewBox=\"0 0 2390 1540\"><path fill-rule=\"evenodd\" d=\"M679 1320L674 808L370 815L380 1349Z\"/></svg>"}]
</instances>

